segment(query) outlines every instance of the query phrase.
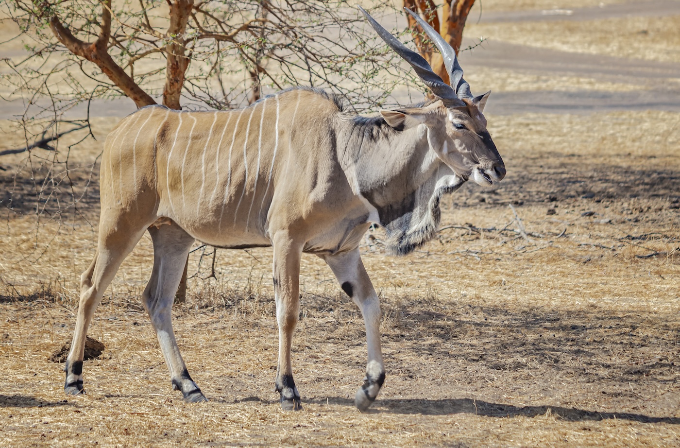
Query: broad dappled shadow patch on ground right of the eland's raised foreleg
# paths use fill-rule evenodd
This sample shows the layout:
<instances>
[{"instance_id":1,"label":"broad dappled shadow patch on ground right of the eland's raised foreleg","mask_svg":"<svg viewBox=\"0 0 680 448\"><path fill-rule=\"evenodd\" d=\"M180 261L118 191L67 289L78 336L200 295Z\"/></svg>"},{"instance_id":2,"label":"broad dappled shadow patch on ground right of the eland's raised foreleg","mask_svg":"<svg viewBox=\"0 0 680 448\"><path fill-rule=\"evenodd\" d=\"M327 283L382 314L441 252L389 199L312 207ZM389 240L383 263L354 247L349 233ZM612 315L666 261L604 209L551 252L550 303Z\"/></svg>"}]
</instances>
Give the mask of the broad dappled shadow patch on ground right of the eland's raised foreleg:
<instances>
[{"instance_id":1,"label":"broad dappled shadow patch on ground right of the eland's raised foreleg","mask_svg":"<svg viewBox=\"0 0 680 448\"><path fill-rule=\"evenodd\" d=\"M420 307L420 309L419 309ZM429 309L428 309L429 308ZM441 313L432 313L439 309ZM633 382L640 387L668 384L680 373L673 337L680 322L672 314L617 313L600 307L585 310L519 309L465 305L399 305L399 327L383 341L413 356L439 356L452 362L515 372L541 366L543 375L572 373L605 387ZM650 325L653 322L653 325ZM437 343L421 344L418 334ZM456 349L442 348L454 344ZM612 358L612 354L623 358ZM568 360L577 359L577 364ZM392 364L393 374L411 375L407 363ZM607 383L613 381L613 383Z\"/></svg>"}]
</instances>

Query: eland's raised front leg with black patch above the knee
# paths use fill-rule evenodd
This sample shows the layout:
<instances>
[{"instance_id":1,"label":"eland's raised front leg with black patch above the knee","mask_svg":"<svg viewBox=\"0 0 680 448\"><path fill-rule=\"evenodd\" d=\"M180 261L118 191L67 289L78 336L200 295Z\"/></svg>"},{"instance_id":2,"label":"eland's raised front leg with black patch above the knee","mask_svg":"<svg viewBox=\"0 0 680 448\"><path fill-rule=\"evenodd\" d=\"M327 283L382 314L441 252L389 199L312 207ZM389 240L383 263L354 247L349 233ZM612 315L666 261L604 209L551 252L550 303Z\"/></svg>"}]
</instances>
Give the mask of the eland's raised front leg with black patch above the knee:
<instances>
[{"instance_id":1,"label":"eland's raised front leg with black patch above the knee","mask_svg":"<svg viewBox=\"0 0 680 448\"><path fill-rule=\"evenodd\" d=\"M364 269L358 248L322 258L330 266L343 291L354 300L364 316L369 360L364 383L354 396L354 405L363 412L373 404L385 381L385 366L380 348L380 303L373 283Z\"/></svg>"}]
</instances>

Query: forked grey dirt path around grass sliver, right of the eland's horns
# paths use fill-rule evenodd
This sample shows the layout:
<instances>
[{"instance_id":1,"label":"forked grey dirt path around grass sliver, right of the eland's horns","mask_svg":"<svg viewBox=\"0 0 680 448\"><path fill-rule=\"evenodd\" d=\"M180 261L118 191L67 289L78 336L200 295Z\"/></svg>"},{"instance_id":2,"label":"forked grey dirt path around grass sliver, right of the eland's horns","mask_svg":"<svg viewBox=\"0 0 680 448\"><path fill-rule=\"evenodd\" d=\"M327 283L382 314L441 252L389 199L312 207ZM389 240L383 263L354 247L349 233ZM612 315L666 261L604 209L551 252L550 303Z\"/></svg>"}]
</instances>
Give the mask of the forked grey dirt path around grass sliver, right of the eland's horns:
<instances>
[{"instance_id":1,"label":"forked grey dirt path around grass sliver, right of the eland's horns","mask_svg":"<svg viewBox=\"0 0 680 448\"><path fill-rule=\"evenodd\" d=\"M483 49L464 52L460 56L460 64L469 71L474 71L475 67L491 67L546 76L591 77L606 82L640 86L640 90L617 92L532 90L532 86L528 85L526 90L519 92L494 92L493 101L489 101L487 109L487 113L492 115L526 112L584 114L624 110L680 111L678 85L667 83L668 78L680 80L678 64L560 52L500 41L488 41Z\"/></svg>"}]
</instances>

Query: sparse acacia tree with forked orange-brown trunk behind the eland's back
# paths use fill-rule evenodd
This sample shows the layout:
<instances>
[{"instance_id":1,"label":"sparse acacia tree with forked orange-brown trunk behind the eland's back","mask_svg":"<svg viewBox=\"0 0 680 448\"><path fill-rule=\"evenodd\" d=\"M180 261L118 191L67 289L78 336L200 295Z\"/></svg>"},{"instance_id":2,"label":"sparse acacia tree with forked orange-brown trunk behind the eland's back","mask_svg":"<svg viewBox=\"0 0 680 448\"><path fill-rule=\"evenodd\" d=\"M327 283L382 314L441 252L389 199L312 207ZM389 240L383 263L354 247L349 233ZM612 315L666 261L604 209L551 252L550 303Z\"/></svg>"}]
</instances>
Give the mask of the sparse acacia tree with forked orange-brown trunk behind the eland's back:
<instances>
[{"instance_id":1,"label":"sparse acacia tree with forked orange-brown trunk behind the eland's back","mask_svg":"<svg viewBox=\"0 0 680 448\"><path fill-rule=\"evenodd\" d=\"M163 104L173 109L180 108L181 97L225 109L243 99L256 101L262 86L280 89L301 79L353 100L366 96L365 82L376 82L375 51L366 45L373 36L356 26L363 20L344 0L14 0L10 5L10 17L31 37L27 60L46 54L69 60L56 72L46 73L43 66L42 73L24 73L18 87L36 89L36 80L58 73L69 78L69 94L84 94L94 82L113 91L93 97L124 94L137 107L156 103L162 94ZM84 77L75 75L78 71ZM354 80L354 88L339 84L347 79Z\"/></svg>"}]
</instances>

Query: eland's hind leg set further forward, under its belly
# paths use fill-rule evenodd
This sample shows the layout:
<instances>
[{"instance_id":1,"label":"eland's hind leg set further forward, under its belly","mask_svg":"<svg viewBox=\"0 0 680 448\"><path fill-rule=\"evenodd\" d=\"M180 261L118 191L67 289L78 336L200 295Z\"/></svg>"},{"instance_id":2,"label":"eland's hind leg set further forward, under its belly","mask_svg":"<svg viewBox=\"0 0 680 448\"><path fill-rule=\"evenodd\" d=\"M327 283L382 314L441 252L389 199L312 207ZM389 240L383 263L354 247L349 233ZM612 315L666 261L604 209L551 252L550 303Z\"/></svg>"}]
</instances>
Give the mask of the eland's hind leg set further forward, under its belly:
<instances>
[{"instance_id":1,"label":"eland's hind leg set further forward, under its belly","mask_svg":"<svg viewBox=\"0 0 680 448\"><path fill-rule=\"evenodd\" d=\"M169 226L152 226L149 233L154 243L154 269L143 293L144 307L156 330L173 389L182 391L187 402L207 401L186 370L177 347L171 316L175 292L194 238L174 222Z\"/></svg>"}]
</instances>

